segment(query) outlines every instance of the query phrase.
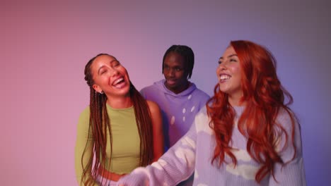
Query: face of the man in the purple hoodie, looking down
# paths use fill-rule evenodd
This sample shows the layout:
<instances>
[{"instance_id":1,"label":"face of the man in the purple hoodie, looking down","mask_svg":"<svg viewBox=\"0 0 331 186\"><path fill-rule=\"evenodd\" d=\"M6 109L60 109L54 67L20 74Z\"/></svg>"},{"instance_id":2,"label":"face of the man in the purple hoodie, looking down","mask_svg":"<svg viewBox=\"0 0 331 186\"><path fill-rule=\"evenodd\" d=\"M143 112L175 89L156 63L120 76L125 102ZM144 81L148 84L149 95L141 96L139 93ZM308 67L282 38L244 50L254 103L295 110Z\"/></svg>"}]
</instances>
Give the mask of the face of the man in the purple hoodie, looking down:
<instances>
[{"instance_id":1,"label":"face of the man in the purple hoodie, looking down","mask_svg":"<svg viewBox=\"0 0 331 186\"><path fill-rule=\"evenodd\" d=\"M185 59L178 53L170 52L165 56L163 75L165 77L165 87L175 94L184 91L189 85Z\"/></svg>"}]
</instances>

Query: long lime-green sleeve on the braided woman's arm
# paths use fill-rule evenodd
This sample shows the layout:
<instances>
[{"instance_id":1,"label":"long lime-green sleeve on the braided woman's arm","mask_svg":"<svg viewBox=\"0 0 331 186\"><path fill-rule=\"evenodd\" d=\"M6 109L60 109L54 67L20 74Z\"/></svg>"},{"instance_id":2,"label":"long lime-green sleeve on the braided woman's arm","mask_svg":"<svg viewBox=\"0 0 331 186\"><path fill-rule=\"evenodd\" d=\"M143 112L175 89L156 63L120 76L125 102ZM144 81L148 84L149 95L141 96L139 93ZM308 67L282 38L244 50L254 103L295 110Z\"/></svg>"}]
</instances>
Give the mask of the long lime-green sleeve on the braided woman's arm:
<instances>
[{"instance_id":1,"label":"long lime-green sleeve on the braided woman's arm","mask_svg":"<svg viewBox=\"0 0 331 186\"><path fill-rule=\"evenodd\" d=\"M76 135L76 146L75 146L75 171L76 180L79 185L81 183L81 177L83 174L83 168L86 168L89 159L91 159L91 154L93 151L93 137L92 132L89 131L90 123L90 111L86 108L79 116L79 122L77 125L77 135ZM85 155L82 159L83 152L85 150ZM83 166L82 166L83 163ZM91 171L89 171L91 173ZM96 183L94 185L97 185Z\"/></svg>"}]
</instances>

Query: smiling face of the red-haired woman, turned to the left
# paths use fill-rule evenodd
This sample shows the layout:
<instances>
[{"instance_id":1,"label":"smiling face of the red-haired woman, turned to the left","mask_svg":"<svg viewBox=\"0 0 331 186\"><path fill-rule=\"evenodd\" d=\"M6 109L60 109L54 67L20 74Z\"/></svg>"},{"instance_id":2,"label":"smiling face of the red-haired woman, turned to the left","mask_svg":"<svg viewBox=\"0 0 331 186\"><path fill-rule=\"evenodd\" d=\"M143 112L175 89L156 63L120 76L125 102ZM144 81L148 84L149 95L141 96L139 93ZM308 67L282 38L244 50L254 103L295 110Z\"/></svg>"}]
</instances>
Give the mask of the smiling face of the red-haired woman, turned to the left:
<instances>
[{"instance_id":1,"label":"smiling face of the red-haired woman, turned to the left","mask_svg":"<svg viewBox=\"0 0 331 186\"><path fill-rule=\"evenodd\" d=\"M223 56L219 58L216 75L221 92L228 94L228 101L231 105L238 105L243 90L241 89L240 61L232 46L229 46Z\"/></svg>"}]
</instances>

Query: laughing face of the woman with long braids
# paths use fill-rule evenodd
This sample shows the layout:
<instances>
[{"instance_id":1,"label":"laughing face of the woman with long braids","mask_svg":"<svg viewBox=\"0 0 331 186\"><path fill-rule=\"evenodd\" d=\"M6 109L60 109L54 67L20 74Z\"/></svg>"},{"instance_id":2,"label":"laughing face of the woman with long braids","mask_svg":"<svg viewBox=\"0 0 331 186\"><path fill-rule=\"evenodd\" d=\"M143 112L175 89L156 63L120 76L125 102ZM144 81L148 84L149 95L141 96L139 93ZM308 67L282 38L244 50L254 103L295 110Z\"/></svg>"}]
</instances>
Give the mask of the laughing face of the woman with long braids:
<instances>
[{"instance_id":1,"label":"laughing face of the woman with long braids","mask_svg":"<svg viewBox=\"0 0 331 186\"><path fill-rule=\"evenodd\" d=\"M105 92L107 97L129 95L129 75L127 69L116 58L102 55L95 58L91 65L96 92Z\"/></svg>"}]
</instances>

